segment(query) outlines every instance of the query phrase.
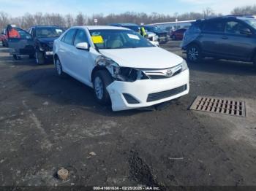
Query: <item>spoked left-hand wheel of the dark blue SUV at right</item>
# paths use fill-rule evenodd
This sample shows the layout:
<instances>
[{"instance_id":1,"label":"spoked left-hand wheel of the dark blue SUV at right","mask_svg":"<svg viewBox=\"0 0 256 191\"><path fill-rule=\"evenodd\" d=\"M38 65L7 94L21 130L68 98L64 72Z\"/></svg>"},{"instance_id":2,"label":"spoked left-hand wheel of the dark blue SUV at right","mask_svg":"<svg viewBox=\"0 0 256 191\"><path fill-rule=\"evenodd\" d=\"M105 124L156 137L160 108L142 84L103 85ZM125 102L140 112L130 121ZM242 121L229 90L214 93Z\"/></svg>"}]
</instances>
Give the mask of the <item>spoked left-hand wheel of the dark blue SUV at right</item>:
<instances>
[{"instance_id":1,"label":"spoked left-hand wheel of the dark blue SUV at right","mask_svg":"<svg viewBox=\"0 0 256 191\"><path fill-rule=\"evenodd\" d=\"M202 61L202 53L197 44L191 44L187 47L187 61L191 63L200 63Z\"/></svg>"}]
</instances>

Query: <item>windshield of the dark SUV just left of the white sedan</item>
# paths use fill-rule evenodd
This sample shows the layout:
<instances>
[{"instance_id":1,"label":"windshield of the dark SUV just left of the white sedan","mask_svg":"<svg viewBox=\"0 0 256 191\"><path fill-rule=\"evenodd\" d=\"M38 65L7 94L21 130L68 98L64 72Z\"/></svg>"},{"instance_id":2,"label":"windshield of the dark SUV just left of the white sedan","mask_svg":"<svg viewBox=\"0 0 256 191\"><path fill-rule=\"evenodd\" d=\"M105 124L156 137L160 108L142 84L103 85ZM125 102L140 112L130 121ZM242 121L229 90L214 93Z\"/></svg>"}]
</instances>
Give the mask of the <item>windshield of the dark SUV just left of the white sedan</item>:
<instances>
[{"instance_id":1,"label":"windshield of the dark SUV just left of the white sedan","mask_svg":"<svg viewBox=\"0 0 256 191\"><path fill-rule=\"evenodd\" d=\"M50 38L50 37L59 37L63 33L61 28L55 27L42 27L37 28L37 37L38 38Z\"/></svg>"}]
</instances>

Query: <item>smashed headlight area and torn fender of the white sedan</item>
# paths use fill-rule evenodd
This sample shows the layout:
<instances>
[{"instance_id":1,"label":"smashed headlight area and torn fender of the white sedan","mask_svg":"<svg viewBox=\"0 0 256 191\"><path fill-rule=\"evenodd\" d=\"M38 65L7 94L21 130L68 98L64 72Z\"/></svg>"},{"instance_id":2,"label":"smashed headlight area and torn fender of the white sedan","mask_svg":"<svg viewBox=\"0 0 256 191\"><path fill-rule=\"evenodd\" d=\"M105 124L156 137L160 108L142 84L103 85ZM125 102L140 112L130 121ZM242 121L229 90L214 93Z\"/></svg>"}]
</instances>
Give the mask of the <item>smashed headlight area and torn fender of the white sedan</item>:
<instances>
[{"instance_id":1,"label":"smashed headlight area and torn fender of the white sedan","mask_svg":"<svg viewBox=\"0 0 256 191\"><path fill-rule=\"evenodd\" d=\"M110 58L100 55L96 61L97 66L105 67L116 81L135 82L140 79L148 79L146 74L140 69L121 67Z\"/></svg>"}]
</instances>

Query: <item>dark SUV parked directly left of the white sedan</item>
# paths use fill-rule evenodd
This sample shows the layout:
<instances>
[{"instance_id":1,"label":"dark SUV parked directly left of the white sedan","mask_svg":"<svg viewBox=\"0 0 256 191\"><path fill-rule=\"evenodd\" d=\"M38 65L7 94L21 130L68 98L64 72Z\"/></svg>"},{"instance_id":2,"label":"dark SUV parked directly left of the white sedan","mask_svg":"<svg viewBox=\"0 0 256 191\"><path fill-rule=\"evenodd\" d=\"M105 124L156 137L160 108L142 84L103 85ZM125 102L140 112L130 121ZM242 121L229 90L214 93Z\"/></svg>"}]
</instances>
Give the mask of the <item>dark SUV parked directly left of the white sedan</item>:
<instances>
[{"instance_id":1,"label":"dark SUV parked directly left of the white sedan","mask_svg":"<svg viewBox=\"0 0 256 191\"><path fill-rule=\"evenodd\" d=\"M53 58L53 42L64 32L59 26L32 26L29 34L34 39L36 62L45 63L45 59Z\"/></svg>"}]
</instances>

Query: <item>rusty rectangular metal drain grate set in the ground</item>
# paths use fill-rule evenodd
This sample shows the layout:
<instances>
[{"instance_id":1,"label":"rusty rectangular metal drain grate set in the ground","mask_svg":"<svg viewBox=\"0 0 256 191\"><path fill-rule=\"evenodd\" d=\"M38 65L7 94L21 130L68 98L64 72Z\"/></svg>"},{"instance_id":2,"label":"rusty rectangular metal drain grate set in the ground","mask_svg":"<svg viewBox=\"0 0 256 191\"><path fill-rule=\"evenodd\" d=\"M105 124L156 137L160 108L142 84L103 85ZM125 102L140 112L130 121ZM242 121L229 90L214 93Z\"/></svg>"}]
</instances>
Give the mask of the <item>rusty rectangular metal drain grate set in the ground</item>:
<instances>
[{"instance_id":1,"label":"rusty rectangular metal drain grate set in the ground","mask_svg":"<svg viewBox=\"0 0 256 191\"><path fill-rule=\"evenodd\" d=\"M198 96L192 106L190 106L190 109L202 112L214 112L246 117L245 101L237 101L229 98Z\"/></svg>"}]
</instances>

